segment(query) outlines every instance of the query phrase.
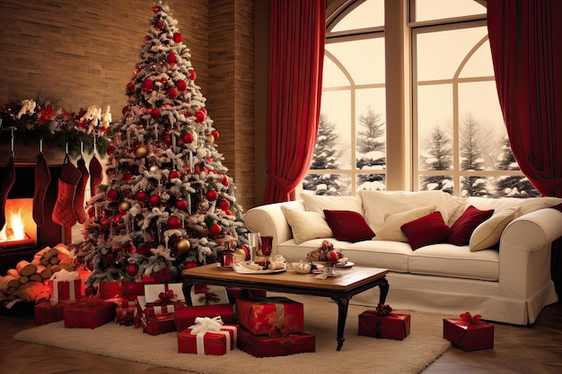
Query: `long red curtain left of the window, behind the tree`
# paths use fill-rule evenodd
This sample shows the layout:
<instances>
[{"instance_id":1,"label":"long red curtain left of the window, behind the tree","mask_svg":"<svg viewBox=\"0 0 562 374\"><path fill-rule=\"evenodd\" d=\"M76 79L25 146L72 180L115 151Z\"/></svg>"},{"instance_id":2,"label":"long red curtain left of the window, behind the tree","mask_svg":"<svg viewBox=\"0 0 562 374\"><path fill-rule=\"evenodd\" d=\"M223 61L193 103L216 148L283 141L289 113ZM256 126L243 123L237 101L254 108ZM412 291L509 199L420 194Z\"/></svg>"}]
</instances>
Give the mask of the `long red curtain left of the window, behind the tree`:
<instances>
[{"instance_id":1,"label":"long red curtain left of the window, behind the tree","mask_svg":"<svg viewBox=\"0 0 562 374\"><path fill-rule=\"evenodd\" d=\"M264 203L294 200L312 161L321 107L325 0L271 1L268 183Z\"/></svg>"}]
</instances>

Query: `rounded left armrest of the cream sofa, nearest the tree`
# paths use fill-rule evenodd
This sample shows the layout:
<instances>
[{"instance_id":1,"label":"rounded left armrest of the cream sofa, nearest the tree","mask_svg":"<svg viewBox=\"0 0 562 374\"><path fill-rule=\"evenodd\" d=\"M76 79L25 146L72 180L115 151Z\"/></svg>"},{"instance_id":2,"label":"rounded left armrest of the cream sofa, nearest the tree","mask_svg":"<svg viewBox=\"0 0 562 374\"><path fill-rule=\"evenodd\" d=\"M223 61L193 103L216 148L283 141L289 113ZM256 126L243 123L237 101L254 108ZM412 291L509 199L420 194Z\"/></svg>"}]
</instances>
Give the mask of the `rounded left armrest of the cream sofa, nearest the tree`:
<instances>
[{"instance_id":1,"label":"rounded left armrest of the cream sofa, nearest the tree","mask_svg":"<svg viewBox=\"0 0 562 374\"><path fill-rule=\"evenodd\" d=\"M277 243L283 243L293 238L293 230L285 218L281 206L304 211L303 201L289 201L285 203L265 204L251 208L244 214L246 226L252 232L259 232L262 236L273 237L273 253L277 253Z\"/></svg>"}]
</instances>

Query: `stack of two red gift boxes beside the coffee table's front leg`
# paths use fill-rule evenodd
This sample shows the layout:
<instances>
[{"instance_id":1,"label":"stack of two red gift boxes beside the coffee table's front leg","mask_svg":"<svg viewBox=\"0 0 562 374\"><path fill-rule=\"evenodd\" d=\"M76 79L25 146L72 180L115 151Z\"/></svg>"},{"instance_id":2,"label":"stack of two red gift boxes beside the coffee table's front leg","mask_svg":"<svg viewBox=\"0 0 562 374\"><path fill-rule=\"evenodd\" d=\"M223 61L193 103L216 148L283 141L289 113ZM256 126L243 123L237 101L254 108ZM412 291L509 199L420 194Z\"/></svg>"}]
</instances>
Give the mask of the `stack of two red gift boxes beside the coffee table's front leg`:
<instances>
[{"instance_id":1,"label":"stack of two red gift boxes beside the coffee table's front leg","mask_svg":"<svg viewBox=\"0 0 562 374\"><path fill-rule=\"evenodd\" d=\"M236 300L238 348L255 357L315 352L316 340L304 331L303 304L285 297Z\"/></svg>"}]
</instances>

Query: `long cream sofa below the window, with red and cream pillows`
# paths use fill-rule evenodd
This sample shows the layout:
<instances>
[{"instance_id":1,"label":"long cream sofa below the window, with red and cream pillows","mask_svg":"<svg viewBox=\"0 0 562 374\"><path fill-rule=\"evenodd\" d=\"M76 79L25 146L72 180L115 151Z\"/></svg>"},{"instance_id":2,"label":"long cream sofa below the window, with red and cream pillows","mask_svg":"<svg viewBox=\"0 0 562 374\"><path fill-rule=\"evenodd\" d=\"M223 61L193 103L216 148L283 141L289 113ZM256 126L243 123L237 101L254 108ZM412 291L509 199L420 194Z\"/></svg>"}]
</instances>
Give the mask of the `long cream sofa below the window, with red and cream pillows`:
<instances>
[{"instance_id":1,"label":"long cream sofa below the window, with red and cream pillows","mask_svg":"<svg viewBox=\"0 0 562 374\"><path fill-rule=\"evenodd\" d=\"M535 321L544 306L558 300L550 279L550 247L562 236L562 213L550 207L561 202L554 197L464 199L441 191L362 191L357 196L302 194L298 201L254 207L245 213L245 221L251 231L272 236L273 254L287 261L304 259L328 239L355 265L389 269L391 287L386 302L393 309L453 317L469 311L490 321L527 325ZM470 205L478 211L494 212L470 230L469 244L450 244L450 236L413 250L409 238L400 230L401 224L416 221L419 215L419 221L429 217L424 211L427 207L430 212L439 212L443 222L453 227ZM343 217L359 213L364 222L352 222L344 232L337 227L331 230L324 210L329 211L330 219L332 213L343 213ZM417 212L417 216L411 212ZM334 220L330 223L333 226ZM343 221L343 226L349 223ZM356 227L371 229L374 238L338 240L333 233L345 237L346 230L355 232ZM425 232L417 236L425 239L437 230ZM375 288L356 295L351 302L374 306L378 300L379 290Z\"/></svg>"}]
</instances>

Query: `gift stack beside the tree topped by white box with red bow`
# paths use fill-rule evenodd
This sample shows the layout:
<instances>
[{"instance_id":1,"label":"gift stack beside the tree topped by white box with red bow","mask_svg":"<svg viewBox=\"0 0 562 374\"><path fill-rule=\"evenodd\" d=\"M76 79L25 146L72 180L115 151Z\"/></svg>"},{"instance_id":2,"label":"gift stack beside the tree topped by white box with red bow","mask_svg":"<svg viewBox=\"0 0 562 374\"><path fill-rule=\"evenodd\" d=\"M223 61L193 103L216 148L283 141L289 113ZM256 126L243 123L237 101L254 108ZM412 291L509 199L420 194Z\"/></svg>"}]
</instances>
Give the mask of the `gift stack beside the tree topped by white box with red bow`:
<instances>
[{"instance_id":1,"label":"gift stack beside the tree topped by white box with red bow","mask_svg":"<svg viewBox=\"0 0 562 374\"><path fill-rule=\"evenodd\" d=\"M135 326L150 335L176 331L175 309L183 305L181 283L145 284L145 296L136 297Z\"/></svg>"}]
</instances>

